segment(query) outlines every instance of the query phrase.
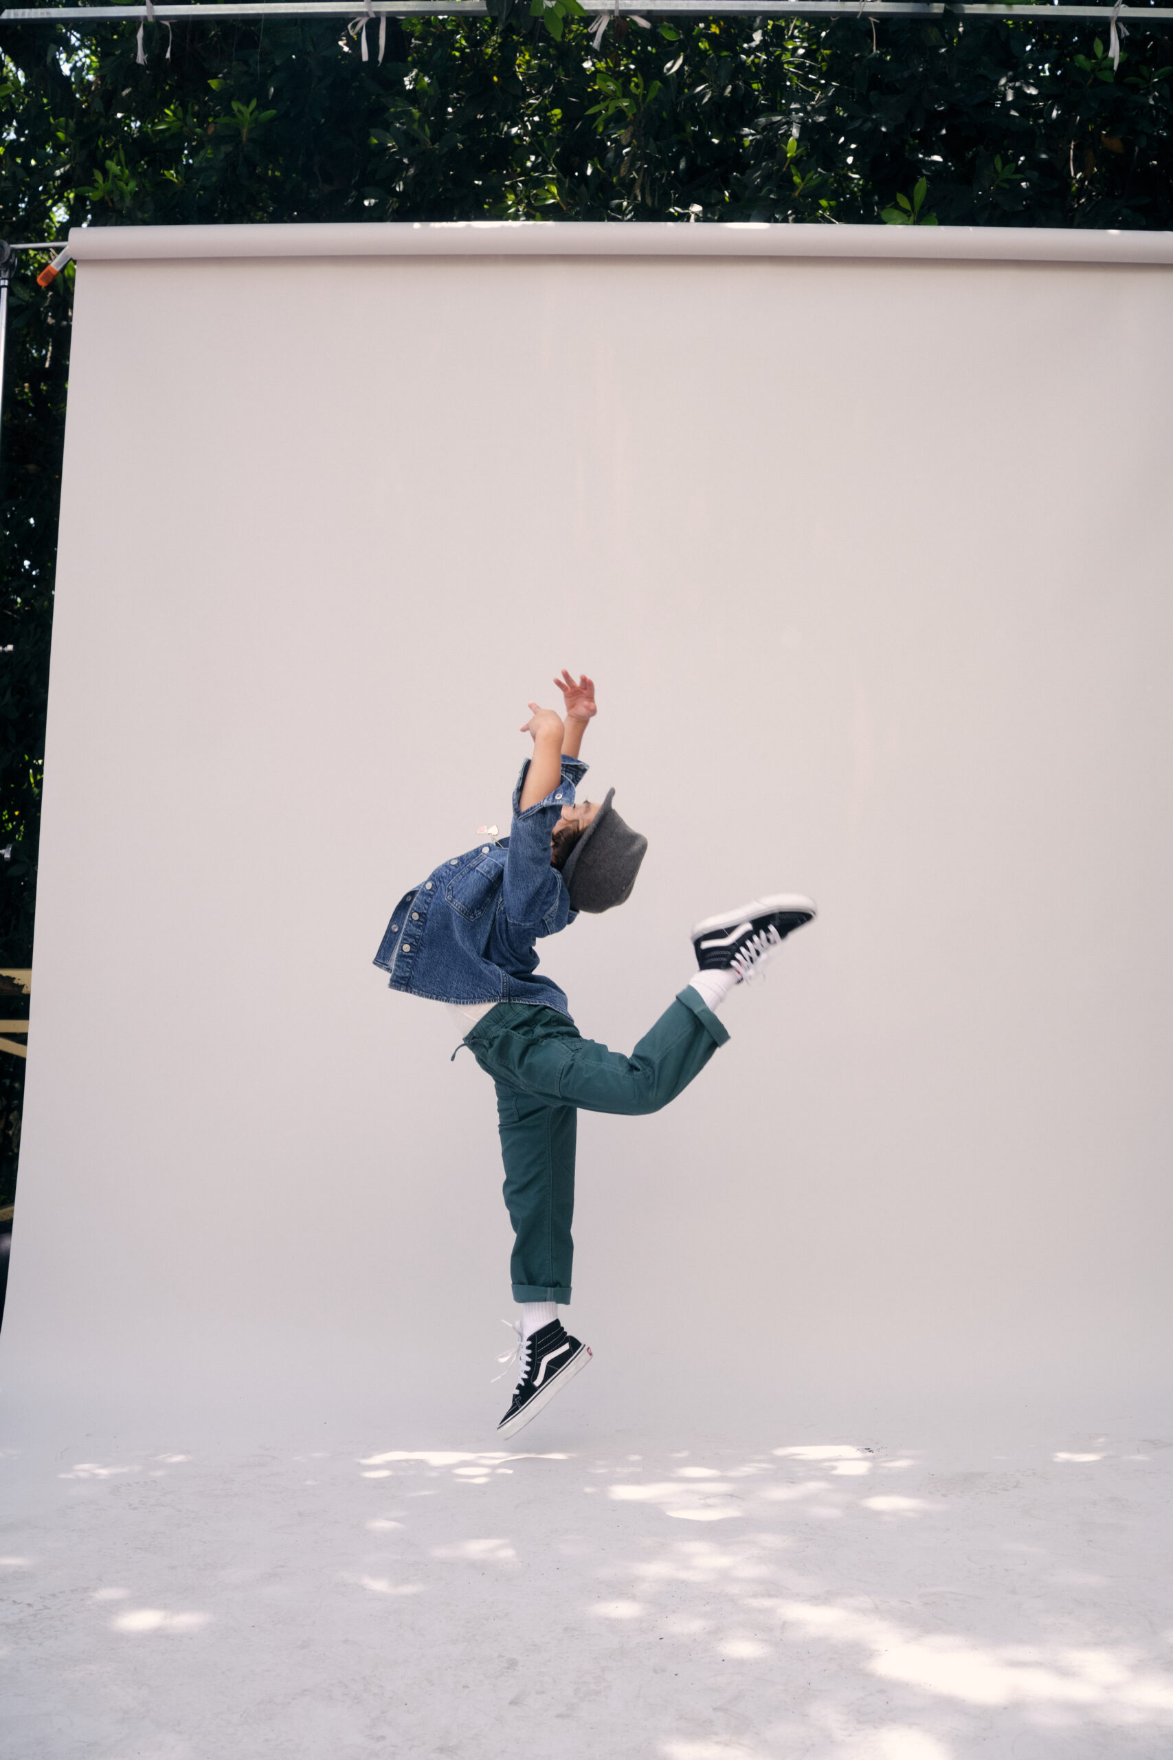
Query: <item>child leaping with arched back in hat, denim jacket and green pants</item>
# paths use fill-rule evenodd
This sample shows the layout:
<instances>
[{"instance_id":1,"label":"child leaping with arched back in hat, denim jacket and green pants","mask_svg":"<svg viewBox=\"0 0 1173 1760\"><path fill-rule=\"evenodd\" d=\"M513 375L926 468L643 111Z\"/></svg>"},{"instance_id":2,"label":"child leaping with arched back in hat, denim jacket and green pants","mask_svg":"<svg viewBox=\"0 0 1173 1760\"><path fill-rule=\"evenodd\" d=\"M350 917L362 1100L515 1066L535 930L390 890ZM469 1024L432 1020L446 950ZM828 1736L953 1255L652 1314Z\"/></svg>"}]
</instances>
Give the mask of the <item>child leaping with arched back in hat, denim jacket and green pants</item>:
<instances>
[{"instance_id":1,"label":"child leaping with arched back in hat, denim jacket and green pants","mask_svg":"<svg viewBox=\"0 0 1173 1760\"><path fill-rule=\"evenodd\" d=\"M705 917L693 929L698 972L630 1058L582 1038L561 989L535 970L535 942L580 910L626 903L647 838L616 813L614 788L601 804L575 804L594 685L566 671L554 683L565 718L529 704L522 732L533 757L514 790L508 838L492 827L477 848L406 892L375 956L392 989L448 1003L463 1042L496 1084L521 1302L521 1373L498 1436L536 1417L591 1359L557 1318L570 1302L579 1109L658 1112L675 1100L730 1037L716 1017L728 993L814 917L809 898L786 892Z\"/></svg>"}]
</instances>

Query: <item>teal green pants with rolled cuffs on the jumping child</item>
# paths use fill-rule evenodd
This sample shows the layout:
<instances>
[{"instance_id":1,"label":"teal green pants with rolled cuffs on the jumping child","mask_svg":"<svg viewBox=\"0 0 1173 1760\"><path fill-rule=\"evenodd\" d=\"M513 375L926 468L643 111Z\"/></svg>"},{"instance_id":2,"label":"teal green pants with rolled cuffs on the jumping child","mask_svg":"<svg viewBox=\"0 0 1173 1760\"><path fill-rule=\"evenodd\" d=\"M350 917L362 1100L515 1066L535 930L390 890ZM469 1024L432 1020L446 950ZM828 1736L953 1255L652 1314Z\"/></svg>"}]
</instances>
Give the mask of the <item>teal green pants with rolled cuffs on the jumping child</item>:
<instances>
[{"instance_id":1,"label":"teal green pants with rolled cuffs on the jumping child","mask_svg":"<svg viewBox=\"0 0 1173 1760\"><path fill-rule=\"evenodd\" d=\"M514 1301L570 1301L579 1109L658 1112L728 1037L691 987L630 1058L584 1038L556 1008L499 1001L477 1023L464 1044L498 1089Z\"/></svg>"}]
</instances>

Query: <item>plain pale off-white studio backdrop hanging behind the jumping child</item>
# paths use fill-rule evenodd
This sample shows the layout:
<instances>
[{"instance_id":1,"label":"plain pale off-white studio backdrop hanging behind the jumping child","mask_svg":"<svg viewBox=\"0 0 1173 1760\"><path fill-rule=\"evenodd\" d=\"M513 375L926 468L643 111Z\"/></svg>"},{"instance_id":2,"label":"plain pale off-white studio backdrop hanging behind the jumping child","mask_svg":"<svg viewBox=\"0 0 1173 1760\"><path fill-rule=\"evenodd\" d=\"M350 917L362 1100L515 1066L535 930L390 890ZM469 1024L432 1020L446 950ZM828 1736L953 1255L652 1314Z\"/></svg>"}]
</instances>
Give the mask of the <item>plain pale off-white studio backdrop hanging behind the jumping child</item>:
<instances>
[{"instance_id":1,"label":"plain pale off-white studio backdrop hanging behind the jumping child","mask_svg":"<svg viewBox=\"0 0 1173 1760\"><path fill-rule=\"evenodd\" d=\"M665 1410L1159 1394L1173 271L591 231L83 239L18 1427L496 1413L492 1089L371 956L561 665L651 840L543 943L584 1033L821 906L668 1112L582 1119L589 1397L635 1336Z\"/></svg>"}]
</instances>

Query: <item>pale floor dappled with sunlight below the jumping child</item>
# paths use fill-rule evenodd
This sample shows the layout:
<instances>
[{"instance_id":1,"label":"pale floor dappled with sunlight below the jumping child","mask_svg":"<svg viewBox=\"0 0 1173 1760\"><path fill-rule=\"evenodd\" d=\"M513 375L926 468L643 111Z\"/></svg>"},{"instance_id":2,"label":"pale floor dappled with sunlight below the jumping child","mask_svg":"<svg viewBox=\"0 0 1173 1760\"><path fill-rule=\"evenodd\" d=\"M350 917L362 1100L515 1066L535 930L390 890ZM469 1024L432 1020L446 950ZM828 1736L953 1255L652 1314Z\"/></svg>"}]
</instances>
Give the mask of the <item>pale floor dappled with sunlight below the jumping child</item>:
<instances>
[{"instance_id":1,"label":"pale floor dappled with sunlight below the jumping child","mask_svg":"<svg viewBox=\"0 0 1173 1760\"><path fill-rule=\"evenodd\" d=\"M1169 1434L412 1441L11 1452L0 1751L1173 1755Z\"/></svg>"}]
</instances>

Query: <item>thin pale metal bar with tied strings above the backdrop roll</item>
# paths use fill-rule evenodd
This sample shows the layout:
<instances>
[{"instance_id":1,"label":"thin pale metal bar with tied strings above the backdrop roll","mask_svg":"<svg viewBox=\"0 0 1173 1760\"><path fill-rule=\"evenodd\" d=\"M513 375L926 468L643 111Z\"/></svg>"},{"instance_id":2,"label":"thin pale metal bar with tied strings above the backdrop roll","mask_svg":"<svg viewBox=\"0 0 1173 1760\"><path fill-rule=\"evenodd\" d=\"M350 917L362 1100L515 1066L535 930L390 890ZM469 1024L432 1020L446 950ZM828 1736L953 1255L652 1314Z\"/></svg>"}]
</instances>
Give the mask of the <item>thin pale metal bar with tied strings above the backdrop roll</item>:
<instances>
[{"instance_id":1,"label":"thin pale metal bar with tied strings above the backdrop roll","mask_svg":"<svg viewBox=\"0 0 1173 1760\"><path fill-rule=\"evenodd\" d=\"M587 0L587 7L593 0ZM361 18L366 7L361 0L227 0L225 5L157 5L155 19L169 23L172 19L200 19L216 23L230 18ZM603 5L610 12L612 5ZM971 0L621 0L616 12L654 12L674 18L696 14L709 18L723 12L747 12L754 16L786 18L1034 18L1039 23L1052 19L1110 19L1110 5L983 5ZM373 18L487 18L485 0L438 0L436 5L420 5L420 0L371 0ZM144 5L55 5L55 7L5 7L0 23L58 23L58 25L97 25L104 19L144 19ZM1169 19L1173 7L1161 5L1122 5L1118 19Z\"/></svg>"}]
</instances>

